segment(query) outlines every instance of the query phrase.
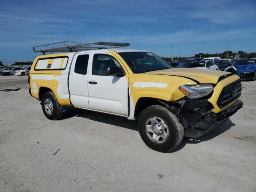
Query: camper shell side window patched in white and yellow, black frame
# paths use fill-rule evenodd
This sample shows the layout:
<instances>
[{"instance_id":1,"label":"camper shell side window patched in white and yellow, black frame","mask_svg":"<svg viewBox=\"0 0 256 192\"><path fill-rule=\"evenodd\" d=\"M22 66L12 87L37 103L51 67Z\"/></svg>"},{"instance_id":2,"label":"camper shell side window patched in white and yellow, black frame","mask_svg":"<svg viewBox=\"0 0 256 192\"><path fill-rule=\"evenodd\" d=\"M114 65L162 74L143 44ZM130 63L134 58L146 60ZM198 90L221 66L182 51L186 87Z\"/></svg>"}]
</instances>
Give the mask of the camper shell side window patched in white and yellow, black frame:
<instances>
[{"instance_id":1,"label":"camper shell side window patched in white and yellow, black frame","mask_svg":"<svg viewBox=\"0 0 256 192\"><path fill-rule=\"evenodd\" d=\"M40 58L37 60L35 70L64 70L68 63L68 56Z\"/></svg>"}]
</instances>

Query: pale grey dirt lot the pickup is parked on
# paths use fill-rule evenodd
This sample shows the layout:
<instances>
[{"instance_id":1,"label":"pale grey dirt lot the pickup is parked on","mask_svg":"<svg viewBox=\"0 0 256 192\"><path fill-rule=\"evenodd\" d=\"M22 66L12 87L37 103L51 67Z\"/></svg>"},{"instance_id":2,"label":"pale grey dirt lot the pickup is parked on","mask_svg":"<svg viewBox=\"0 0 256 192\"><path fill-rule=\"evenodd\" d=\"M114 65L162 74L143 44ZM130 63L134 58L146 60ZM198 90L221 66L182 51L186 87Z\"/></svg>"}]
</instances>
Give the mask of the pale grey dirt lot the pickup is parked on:
<instances>
[{"instance_id":1,"label":"pale grey dirt lot the pickup is parked on","mask_svg":"<svg viewBox=\"0 0 256 192\"><path fill-rule=\"evenodd\" d=\"M125 118L68 107L48 120L27 78L0 76L0 90L21 88L0 91L1 192L256 191L256 82L230 120L164 154Z\"/></svg>"}]
</instances>

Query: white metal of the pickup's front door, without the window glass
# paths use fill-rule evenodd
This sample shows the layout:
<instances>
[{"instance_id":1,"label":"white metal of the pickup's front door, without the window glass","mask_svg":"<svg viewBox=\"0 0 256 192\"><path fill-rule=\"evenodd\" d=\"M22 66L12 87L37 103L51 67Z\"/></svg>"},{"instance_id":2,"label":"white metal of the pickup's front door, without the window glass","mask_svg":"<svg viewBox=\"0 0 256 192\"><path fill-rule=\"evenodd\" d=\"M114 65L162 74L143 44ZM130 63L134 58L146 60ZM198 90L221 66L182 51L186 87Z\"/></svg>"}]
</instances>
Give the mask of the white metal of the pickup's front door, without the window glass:
<instances>
[{"instance_id":1,"label":"white metal of the pickup's front door, without the window glass","mask_svg":"<svg viewBox=\"0 0 256 192\"><path fill-rule=\"evenodd\" d=\"M98 52L106 54L106 52ZM92 60L88 63L89 106L91 110L128 116L128 81L126 77L92 75Z\"/></svg>"}]
</instances>

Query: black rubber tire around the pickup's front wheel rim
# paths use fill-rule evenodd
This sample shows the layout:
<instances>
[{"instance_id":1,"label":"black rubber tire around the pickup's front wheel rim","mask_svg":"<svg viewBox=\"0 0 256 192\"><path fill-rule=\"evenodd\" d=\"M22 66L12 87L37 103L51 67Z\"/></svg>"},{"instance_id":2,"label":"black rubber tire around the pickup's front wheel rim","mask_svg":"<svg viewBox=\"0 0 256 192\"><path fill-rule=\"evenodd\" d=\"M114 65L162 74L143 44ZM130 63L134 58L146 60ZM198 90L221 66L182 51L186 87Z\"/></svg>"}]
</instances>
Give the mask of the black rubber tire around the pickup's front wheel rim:
<instances>
[{"instance_id":1,"label":"black rubber tire around the pickup's front wheel rim","mask_svg":"<svg viewBox=\"0 0 256 192\"><path fill-rule=\"evenodd\" d=\"M146 123L150 118L158 117L167 125L168 136L165 140L157 143L150 139L150 135L146 131ZM146 108L139 117L138 121L139 132L144 143L151 149L159 152L170 152L177 148L184 137L184 127L179 122L178 118L166 107L160 105L152 105ZM153 126L154 127L154 126Z\"/></svg>"}]
</instances>

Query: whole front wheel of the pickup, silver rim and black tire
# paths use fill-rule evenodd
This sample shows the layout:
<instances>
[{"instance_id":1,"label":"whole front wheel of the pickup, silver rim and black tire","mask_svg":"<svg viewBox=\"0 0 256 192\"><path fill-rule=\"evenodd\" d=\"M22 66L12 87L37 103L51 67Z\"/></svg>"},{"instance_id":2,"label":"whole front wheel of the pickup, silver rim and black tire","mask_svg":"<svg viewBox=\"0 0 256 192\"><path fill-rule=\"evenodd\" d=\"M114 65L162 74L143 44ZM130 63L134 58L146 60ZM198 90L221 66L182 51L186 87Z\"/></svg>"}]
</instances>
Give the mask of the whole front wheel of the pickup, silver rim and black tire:
<instances>
[{"instance_id":1,"label":"whole front wheel of the pickup, silver rim and black tire","mask_svg":"<svg viewBox=\"0 0 256 192\"><path fill-rule=\"evenodd\" d=\"M139 117L139 132L144 143L159 152L177 148L184 137L184 127L166 107L153 105Z\"/></svg>"}]
</instances>

